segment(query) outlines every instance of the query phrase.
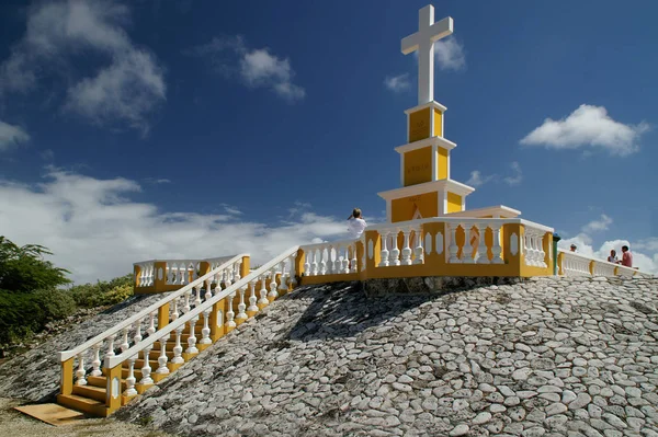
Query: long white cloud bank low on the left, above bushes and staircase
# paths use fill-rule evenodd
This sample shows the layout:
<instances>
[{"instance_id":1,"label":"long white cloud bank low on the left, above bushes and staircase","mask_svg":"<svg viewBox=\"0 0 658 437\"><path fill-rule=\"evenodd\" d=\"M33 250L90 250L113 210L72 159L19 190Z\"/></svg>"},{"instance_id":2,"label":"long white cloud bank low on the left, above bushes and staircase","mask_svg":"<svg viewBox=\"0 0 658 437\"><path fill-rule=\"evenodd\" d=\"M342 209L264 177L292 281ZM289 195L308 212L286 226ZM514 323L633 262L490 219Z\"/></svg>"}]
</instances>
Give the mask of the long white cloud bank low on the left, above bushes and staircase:
<instances>
[{"instance_id":1,"label":"long white cloud bank low on the left, above bushes and staircase","mask_svg":"<svg viewBox=\"0 0 658 437\"><path fill-rule=\"evenodd\" d=\"M209 257L241 252L263 263L295 244L345 234L344 218L322 217L298 204L274 225L227 214L164 212L131 199L141 186L48 168L38 185L0 182L0 229L16 244L43 244L76 281L107 279L150 258ZM317 240L316 240L317 241Z\"/></svg>"}]
</instances>

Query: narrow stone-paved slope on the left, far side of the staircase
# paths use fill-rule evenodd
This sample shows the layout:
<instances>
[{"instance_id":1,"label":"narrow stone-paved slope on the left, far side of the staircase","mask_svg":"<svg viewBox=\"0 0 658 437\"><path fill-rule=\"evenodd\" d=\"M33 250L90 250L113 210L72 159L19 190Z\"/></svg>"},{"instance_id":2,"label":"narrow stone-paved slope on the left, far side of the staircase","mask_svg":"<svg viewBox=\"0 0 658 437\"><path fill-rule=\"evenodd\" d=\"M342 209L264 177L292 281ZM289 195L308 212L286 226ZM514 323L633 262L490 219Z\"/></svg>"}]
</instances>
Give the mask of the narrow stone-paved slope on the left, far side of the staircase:
<instances>
[{"instance_id":1,"label":"narrow stone-paved slope on the left, far side of the staircase","mask_svg":"<svg viewBox=\"0 0 658 437\"><path fill-rule=\"evenodd\" d=\"M134 296L2 364L0 398L20 398L34 402L52 401L50 398L59 391L61 367L57 359L58 352L81 345L167 295Z\"/></svg>"}]
</instances>

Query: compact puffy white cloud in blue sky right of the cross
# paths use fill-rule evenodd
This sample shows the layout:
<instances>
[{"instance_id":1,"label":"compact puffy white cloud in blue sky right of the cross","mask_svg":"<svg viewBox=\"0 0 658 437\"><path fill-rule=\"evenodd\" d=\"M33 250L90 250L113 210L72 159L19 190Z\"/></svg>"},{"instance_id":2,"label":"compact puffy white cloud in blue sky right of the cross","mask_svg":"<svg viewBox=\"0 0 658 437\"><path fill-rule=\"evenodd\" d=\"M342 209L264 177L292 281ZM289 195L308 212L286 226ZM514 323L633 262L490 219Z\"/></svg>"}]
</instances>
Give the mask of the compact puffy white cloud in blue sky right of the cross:
<instances>
[{"instance_id":1,"label":"compact puffy white cloud in blue sky right of the cross","mask_svg":"<svg viewBox=\"0 0 658 437\"><path fill-rule=\"evenodd\" d=\"M547 149L601 148L623 157L639 150L637 140L648 129L645 122L624 125L612 119L603 106L583 104L566 118L546 118L521 143Z\"/></svg>"}]
</instances>

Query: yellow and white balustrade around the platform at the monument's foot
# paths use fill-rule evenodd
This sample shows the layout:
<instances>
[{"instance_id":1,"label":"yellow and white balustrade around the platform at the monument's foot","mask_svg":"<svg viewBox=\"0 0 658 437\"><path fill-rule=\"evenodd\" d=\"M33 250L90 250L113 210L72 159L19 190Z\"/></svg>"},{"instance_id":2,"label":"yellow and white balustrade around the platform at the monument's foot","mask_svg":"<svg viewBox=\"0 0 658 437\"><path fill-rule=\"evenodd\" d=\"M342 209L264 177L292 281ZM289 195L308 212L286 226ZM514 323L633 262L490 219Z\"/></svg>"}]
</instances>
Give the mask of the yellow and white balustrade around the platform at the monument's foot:
<instances>
[{"instance_id":1,"label":"yellow and white balustrade around the platform at the monument's foot","mask_svg":"<svg viewBox=\"0 0 658 437\"><path fill-rule=\"evenodd\" d=\"M422 276L547 276L553 229L523 219L431 218L300 248L303 284Z\"/></svg>"}]
</instances>

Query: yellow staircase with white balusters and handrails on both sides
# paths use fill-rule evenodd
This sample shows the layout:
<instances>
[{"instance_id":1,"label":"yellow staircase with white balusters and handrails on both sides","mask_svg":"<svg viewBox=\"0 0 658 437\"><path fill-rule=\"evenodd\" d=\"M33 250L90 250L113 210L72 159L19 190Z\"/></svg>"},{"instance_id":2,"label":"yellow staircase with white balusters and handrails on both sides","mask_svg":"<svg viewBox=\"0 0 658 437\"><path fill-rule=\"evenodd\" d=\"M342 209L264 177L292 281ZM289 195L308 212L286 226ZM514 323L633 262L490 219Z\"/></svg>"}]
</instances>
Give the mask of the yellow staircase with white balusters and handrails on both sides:
<instances>
[{"instance_id":1,"label":"yellow staircase with white balusters and handrails on both sides","mask_svg":"<svg viewBox=\"0 0 658 437\"><path fill-rule=\"evenodd\" d=\"M249 269L247 255L236 255L126 321L61 352L57 402L89 415L110 416L292 290L297 250L291 248L256 271ZM143 326L148 326L146 335Z\"/></svg>"}]
</instances>

